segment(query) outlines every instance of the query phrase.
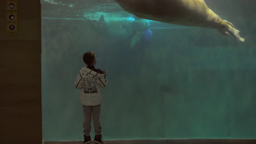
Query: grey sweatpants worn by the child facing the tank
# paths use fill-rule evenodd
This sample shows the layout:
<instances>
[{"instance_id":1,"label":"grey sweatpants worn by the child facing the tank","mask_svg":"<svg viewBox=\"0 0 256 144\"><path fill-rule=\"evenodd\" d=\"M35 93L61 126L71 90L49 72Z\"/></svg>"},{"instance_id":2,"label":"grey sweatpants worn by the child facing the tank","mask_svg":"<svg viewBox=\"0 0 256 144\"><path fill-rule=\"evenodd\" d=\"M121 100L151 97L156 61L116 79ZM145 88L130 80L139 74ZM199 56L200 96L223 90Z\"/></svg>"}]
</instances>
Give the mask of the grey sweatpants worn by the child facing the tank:
<instances>
[{"instance_id":1,"label":"grey sweatpants worn by the child facing the tank","mask_svg":"<svg viewBox=\"0 0 256 144\"><path fill-rule=\"evenodd\" d=\"M97 106L84 106L84 135L89 136L91 132L91 118L94 120L95 135L101 135L101 105ZM92 117L91 117L92 116Z\"/></svg>"}]
</instances>

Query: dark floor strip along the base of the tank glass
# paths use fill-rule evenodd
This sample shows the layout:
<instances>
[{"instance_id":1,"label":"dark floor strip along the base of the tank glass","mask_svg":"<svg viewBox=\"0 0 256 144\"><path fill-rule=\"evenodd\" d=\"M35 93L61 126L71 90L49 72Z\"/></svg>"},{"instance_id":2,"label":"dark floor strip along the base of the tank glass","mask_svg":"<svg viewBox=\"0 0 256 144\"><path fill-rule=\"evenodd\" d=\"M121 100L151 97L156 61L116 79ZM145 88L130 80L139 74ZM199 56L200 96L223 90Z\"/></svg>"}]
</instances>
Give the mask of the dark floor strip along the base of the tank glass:
<instances>
[{"instance_id":1,"label":"dark floor strip along the base of the tank glass","mask_svg":"<svg viewBox=\"0 0 256 144\"><path fill-rule=\"evenodd\" d=\"M83 141L53 141L44 144L80 144ZM104 144L256 144L256 139L174 139L174 140L105 140ZM94 144L94 143L91 143Z\"/></svg>"}]
</instances>

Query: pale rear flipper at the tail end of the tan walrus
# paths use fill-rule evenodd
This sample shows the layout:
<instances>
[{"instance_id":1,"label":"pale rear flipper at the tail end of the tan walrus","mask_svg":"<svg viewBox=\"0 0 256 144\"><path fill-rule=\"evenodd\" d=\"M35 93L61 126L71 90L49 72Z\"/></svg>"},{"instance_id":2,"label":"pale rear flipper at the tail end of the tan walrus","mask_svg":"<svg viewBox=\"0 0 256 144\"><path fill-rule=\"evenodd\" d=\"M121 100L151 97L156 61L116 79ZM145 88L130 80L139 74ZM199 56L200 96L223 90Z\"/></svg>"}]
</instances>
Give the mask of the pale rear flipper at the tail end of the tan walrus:
<instances>
[{"instance_id":1,"label":"pale rear flipper at the tail end of the tan walrus","mask_svg":"<svg viewBox=\"0 0 256 144\"><path fill-rule=\"evenodd\" d=\"M243 38L240 37L240 35L239 35L240 31L238 31L238 30L235 28L235 26L234 26L231 22L225 21L225 20L223 20L223 21L228 24L228 27L225 28L225 29L219 29L219 32L220 32L220 33L222 33L222 34L224 34L224 35L232 34L232 35L234 35L234 37L236 37L239 41L242 41L242 42L245 41L245 39L243 39Z\"/></svg>"}]
</instances>

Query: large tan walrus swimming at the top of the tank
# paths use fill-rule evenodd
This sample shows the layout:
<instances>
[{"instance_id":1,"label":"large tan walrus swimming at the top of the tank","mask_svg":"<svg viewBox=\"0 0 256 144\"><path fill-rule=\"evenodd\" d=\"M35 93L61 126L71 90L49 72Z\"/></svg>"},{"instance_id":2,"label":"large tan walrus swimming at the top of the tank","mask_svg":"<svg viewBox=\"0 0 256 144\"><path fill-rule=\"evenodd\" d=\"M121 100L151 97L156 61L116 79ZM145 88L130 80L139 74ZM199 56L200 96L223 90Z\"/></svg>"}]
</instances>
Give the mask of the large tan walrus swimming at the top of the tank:
<instances>
[{"instance_id":1,"label":"large tan walrus swimming at the top of the tank","mask_svg":"<svg viewBox=\"0 0 256 144\"><path fill-rule=\"evenodd\" d=\"M114 0L125 11L142 19L183 26L218 29L245 41L235 26L222 20L203 0Z\"/></svg>"}]
</instances>

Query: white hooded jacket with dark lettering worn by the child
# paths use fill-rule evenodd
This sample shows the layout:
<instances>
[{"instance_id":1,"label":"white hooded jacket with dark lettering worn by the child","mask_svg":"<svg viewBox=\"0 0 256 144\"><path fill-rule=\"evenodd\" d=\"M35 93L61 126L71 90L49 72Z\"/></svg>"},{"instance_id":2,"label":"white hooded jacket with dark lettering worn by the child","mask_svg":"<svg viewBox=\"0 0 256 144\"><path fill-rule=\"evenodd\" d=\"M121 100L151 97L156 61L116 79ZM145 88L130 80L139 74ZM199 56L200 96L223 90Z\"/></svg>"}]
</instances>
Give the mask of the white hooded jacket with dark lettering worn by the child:
<instances>
[{"instance_id":1,"label":"white hooded jacket with dark lettering worn by the child","mask_svg":"<svg viewBox=\"0 0 256 144\"><path fill-rule=\"evenodd\" d=\"M80 101L85 106L100 105L102 100L101 87L107 86L106 74L100 74L83 67L75 80L75 88L82 89Z\"/></svg>"}]
</instances>

